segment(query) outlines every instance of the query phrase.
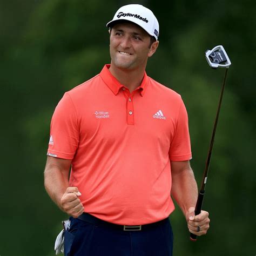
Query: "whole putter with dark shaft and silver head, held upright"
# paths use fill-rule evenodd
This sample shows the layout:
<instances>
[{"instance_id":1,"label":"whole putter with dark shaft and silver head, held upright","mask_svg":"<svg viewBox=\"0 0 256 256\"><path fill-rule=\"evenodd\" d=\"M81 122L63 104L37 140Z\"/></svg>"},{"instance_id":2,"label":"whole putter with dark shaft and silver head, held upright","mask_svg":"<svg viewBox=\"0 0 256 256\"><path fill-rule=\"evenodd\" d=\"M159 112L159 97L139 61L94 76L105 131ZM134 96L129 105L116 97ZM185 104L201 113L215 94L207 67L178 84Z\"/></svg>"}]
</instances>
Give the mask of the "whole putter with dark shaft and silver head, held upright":
<instances>
[{"instance_id":1,"label":"whole putter with dark shaft and silver head, held upright","mask_svg":"<svg viewBox=\"0 0 256 256\"><path fill-rule=\"evenodd\" d=\"M217 114L216 114L215 122L214 122L214 126L213 126L212 138L211 138L211 143L210 143L210 147L209 147L208 155L207 155L207 159L206 159L204 175L203 175L203 179L201 181L201 187L200 187L200 191L198 193L197 204L196 204L196 207L194 210L196 215L201 213L201 209L203 206L205 185L206 185L206 181L207 181L207 175L208 175L210 160L211 160L211 156L212 156L212 149L213 149L215 132L216 132L217 124L218 124L218 119L219 119L220 106L221 106L223 92L224 92L224 88L225 88L225 84L226 84L227 70L231 65L230 58L228 58L227 53L224 50L222 45L215 46L212 50L207 50L205 52L205 57L207 59L208 64L211 66L211 68L217 69L218 67L220 67L220 68L226 68L226 70L225 70L223 85L222 85L221 92L220 92L219 105L218 105ZM190 233L190 240L197 241L197 235Z\"/></svg>"}]
</instances>

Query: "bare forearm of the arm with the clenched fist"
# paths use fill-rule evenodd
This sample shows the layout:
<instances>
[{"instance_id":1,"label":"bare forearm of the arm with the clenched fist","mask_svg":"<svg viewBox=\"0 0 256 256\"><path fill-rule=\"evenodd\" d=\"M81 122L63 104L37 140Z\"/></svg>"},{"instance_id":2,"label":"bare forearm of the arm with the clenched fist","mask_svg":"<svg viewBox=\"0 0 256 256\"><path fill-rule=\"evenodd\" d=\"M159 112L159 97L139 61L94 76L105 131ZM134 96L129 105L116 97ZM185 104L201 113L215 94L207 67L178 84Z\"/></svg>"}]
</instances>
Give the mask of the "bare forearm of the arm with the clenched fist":
<instances>
[{"instance_id":1,"label":"bare forearm of the arm with the clenched fist","mask_svg":"<svg viewBox=\"0 0 256 256\"><path fill-rule=\"evenodd\" d=\"M62 209L60 199L69 186L69 178L66 172L63 172L63 170L56 165L46 166L44 171L44 186L50 198Z\"/></svg>"}]
</instances>

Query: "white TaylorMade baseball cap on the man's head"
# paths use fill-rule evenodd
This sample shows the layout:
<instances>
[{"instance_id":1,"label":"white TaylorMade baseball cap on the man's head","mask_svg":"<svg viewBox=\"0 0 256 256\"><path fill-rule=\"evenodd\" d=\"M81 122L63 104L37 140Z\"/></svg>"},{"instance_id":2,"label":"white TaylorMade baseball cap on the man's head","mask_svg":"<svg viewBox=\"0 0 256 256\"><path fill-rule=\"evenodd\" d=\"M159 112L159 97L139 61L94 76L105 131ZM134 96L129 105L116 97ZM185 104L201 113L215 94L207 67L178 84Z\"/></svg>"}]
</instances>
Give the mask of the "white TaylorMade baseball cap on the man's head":
<instances>
[{"instance_id":1,"label":"white TaylorMade baseball cap on the man's head","mask_svg":"<svg viewBox=\"0 0 256 256\"><path fill-rule=\"evenodd\" d=\"M133 22L146 30L149 35L158 39L159 24L157 18L150 9L143 5L128 4L122 6L118 9L112 21L106 24L107 28L111 28L118 21Z\"/></svg>"}]
</instances>

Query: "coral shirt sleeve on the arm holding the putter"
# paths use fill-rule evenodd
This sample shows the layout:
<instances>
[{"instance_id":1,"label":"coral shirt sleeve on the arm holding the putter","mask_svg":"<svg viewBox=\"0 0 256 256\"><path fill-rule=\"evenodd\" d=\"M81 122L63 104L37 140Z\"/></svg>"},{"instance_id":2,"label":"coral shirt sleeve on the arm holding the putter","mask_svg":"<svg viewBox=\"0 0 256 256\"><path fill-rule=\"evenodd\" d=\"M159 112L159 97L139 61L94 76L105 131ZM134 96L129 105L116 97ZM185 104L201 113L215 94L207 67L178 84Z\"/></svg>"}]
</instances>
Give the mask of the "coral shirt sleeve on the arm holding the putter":
<instances>
[{"instance_id":1,"label":"coral shirt sleeve on the arm holding the putter","mask_svg":"<svg viewBox=\"0 0 256 256\"><path fill-rule=\"evenodd\" d=\"M170 145L169 157L171 161L185 161L192 159L190 134L188 131L188 116L182 99L174 136Z\"/></svg>"}]
</instances>

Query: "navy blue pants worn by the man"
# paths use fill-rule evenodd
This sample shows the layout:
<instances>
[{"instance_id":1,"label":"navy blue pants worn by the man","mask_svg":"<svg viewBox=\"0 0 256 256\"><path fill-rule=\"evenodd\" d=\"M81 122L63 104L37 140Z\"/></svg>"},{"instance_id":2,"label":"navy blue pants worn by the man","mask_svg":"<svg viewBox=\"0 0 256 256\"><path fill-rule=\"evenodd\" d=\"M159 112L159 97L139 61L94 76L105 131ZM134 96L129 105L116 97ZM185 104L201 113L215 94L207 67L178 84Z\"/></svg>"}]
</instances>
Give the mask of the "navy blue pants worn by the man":
<instances>
[{"instance_id":1,"label":"navy blue pants worn by the man","mask_svg":"<svg viewBox=\"0 0 256 256\"><path fill-rule=\"evenodd\" d=\"M70 218L64 233L65 256L172 256L169 219L141 231L123 231Z\"/></svg>"}]
</instances>

